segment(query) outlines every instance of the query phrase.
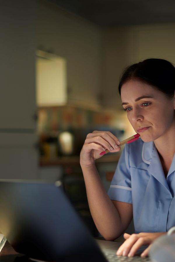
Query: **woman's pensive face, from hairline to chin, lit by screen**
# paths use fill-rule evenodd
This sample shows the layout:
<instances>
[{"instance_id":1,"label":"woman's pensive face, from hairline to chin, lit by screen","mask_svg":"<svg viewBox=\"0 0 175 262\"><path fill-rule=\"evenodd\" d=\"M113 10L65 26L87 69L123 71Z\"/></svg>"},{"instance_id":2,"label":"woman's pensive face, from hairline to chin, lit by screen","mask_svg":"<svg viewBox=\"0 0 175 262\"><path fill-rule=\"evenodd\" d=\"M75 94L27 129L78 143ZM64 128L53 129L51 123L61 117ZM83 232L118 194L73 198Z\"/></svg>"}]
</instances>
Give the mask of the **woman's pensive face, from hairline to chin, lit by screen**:
<instances>
[{"instance_id":1,"label":"woman's pensive face, from hairline to chin, lit by screen","mask_svg":"<svg viewBox=\"0 0 175 262\"><path fill-rule=\"evenodd\" d=\"M122 85L121 99L129 122L145 142L158 139L174 124L174 98L151 85L129 80Z\"/></svg>"}]
</instances>

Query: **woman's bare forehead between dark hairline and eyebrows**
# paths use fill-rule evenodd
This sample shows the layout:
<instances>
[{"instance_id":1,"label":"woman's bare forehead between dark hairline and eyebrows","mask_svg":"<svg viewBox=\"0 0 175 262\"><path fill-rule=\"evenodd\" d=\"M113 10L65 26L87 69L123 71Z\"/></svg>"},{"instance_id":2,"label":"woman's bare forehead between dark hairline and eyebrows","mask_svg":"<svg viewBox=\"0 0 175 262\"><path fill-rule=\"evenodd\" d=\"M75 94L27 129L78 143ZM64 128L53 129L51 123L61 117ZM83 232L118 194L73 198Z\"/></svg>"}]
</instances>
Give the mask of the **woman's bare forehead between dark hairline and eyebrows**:
<instances>
[{"instance_id":1,"label":"woman's bare forehead between dark hairline and eyebrows","mask_svg":"<svg viewBox=\"0 0 175 262\"><path fill-rule=\"evenodd\" d=\"M137 79L131 79L125 82L121 88L121 99L124 100L136 99L139 96L157 96L161 95L156 87L153 87L145 82Z\"/></svg>"}]
</instances>

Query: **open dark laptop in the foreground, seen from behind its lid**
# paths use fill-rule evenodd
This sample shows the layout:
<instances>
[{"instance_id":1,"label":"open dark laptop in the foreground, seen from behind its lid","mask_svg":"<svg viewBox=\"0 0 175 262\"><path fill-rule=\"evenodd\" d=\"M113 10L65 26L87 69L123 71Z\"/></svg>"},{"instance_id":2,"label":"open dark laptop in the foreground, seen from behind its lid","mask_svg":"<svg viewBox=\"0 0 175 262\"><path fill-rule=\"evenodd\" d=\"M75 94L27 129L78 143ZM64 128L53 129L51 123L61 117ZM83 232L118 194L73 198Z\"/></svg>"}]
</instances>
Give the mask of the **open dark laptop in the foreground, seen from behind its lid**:
<instances>
[{"instance_id":1,"label":"open dark laptop in the foreground, seen from behind its lid","mask_svg":"<svg viewBox=\"0 0 175 262\"><path fill-rule=\"evenodd\" d=\"M35 261L131 261L116 256L121 243L93 239L60 181L0 180L0 231Z\"/></svg>"}]
</instances>

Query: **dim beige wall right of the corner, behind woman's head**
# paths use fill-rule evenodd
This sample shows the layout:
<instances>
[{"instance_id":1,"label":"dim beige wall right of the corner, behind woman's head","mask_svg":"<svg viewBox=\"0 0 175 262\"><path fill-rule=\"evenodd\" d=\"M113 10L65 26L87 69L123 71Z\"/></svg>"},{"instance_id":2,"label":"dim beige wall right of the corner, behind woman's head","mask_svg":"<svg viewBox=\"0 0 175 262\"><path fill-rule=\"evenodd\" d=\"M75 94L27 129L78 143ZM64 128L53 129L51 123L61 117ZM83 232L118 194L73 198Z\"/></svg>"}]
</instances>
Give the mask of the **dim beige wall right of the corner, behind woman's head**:
<instances>
[{"instance_id":1,"label":"dim beige wall right of the corner, behind woman's head","mask_svg":"<svg viewBox=\"0 0 175 262\"><path fill-rule=\"evenodd\" d=\"M103 105L121 108L118 82L122 70L145 58L175 63L175 23L105 29L103 32Z\"/></svg>"}]
</instances>

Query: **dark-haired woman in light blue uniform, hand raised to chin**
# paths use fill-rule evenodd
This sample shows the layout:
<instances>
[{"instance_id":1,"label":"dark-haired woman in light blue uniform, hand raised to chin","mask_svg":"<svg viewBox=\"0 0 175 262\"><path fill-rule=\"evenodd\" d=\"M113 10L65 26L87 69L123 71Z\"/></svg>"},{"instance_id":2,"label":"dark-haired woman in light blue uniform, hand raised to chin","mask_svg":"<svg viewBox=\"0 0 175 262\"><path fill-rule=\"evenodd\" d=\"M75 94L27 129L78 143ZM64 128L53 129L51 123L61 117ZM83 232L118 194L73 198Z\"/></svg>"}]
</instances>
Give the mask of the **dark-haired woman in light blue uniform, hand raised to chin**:
<instances>
[{"instance_id":1,"label":"dark-haired woman in light blue uniform, hand raised to chin","mask_svg":"<svg viewBox=\"0 0 175 262\"><path fill-rule=\"evenodd\" d=\"M100 234L113 241L134 220L135 234L124 234L117 255L132 257L175 226L175 68L146 59L127 67L120 79L122 107L140 138L126 144L108 194L95 167L99 153L120 151L111 132L87 135L80 154L90 211Z\"/></svg>"}]
</instances>

